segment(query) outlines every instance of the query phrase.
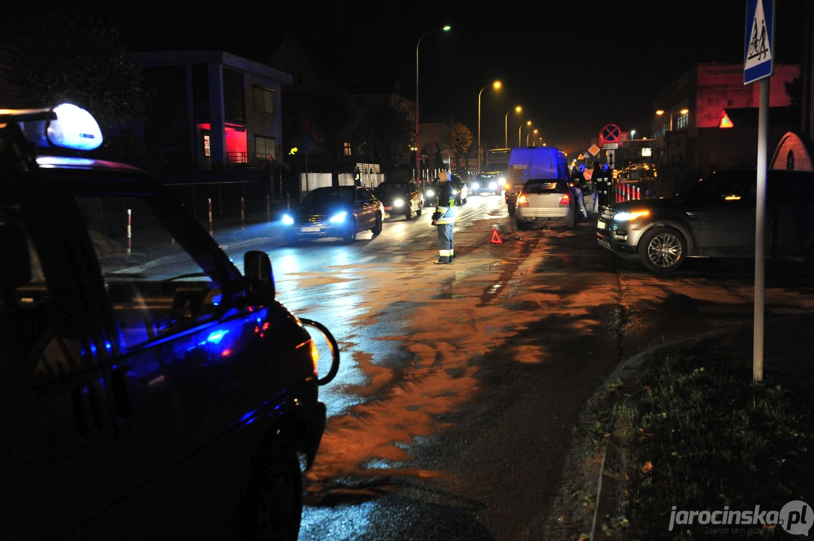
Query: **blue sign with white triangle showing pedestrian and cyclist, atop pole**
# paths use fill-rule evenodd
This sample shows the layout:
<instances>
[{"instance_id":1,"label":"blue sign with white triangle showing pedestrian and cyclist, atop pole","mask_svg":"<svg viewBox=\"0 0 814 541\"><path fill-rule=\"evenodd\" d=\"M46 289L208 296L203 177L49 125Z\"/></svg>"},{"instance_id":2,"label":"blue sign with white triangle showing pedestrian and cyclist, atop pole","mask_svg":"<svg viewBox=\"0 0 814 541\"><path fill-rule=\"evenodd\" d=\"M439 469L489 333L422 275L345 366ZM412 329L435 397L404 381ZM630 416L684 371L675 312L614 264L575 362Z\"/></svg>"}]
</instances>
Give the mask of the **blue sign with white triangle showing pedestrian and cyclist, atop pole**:
<instances>
[{"instance_id":1,"label":"blue sign with white triangle showing pedestrian and cyclist, atop pole","mask_svg":"<svg viewBox=\"0 0 814 541\"><path fill-rule=\"evenodd\" d=\"M775 0L746 0L743 84L754 83L774 73L774 2Z\"/></svg>"}]
</instances>

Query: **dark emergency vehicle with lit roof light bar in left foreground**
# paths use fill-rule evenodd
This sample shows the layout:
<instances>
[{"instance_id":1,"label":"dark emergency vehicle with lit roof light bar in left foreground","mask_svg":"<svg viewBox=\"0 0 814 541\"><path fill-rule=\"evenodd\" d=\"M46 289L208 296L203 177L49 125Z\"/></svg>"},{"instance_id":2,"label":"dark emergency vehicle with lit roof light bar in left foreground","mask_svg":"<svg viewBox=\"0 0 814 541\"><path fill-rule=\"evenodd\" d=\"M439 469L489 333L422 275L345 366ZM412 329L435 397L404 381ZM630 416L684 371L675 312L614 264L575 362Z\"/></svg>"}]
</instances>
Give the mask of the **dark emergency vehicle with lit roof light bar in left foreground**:
<instances>
[{"instance_id":1,"label":"dark emergency vehicle with lit roof light bar in left foreground","mask_svg":"<svg viewBox=\"0 0 814 541\"><path fill-rule=\"evenodd\" d=\"M5 529L297 539L336 342L275 301L265 253L241 273L147 173L78 155L101 141L67 104L0 113Z\"/></svg>"}]
</instances>

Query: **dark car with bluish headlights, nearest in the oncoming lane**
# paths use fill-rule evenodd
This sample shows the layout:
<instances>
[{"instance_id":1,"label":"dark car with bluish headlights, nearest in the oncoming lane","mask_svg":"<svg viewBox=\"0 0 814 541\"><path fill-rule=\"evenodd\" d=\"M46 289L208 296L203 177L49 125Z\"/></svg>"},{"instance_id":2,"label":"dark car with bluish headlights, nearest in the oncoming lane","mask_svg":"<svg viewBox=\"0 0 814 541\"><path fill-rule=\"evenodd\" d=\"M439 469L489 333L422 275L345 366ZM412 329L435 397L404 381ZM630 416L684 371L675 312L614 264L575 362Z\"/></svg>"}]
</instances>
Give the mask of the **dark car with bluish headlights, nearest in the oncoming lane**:
<instances>
[{"instance_id":1,"label":"dark car with bluish headlights, nearest in the oncoming lane","mask_svg":"<svg viewBox=\"0 0 814 541\"><path fill-rule=\"evenodd\" d=\"M282 236L288 245L302 240L336 237L345 243L357 233L382 232L384 205L363 186L324 186L308 193L291 212L282 215Z\"/></svg>"}]
</instances>

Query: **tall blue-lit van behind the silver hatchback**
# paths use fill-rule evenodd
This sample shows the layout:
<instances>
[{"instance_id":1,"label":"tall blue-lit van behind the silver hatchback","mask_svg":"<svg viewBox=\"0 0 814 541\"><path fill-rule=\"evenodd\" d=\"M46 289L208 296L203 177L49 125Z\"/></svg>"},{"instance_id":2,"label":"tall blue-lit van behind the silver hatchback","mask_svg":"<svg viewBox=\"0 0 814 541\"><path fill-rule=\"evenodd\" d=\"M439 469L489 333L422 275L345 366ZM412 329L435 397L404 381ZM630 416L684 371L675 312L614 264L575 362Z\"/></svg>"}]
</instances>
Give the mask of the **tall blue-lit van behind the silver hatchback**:
<instances>
[{"instance_id":1,"label":"tall blue-lit van behind the silver hatchback","mask_svg":"<svg viewBox=\"0 0 814 541\"><path fill-rule=\"evenodd\" d=\"M553 146L533 146L510 149L509 164L506 166L505 201L509 215L514 216L517 194L526 180L560 179L569 180L566 155Z\"/></svg>"}]
</instances>

